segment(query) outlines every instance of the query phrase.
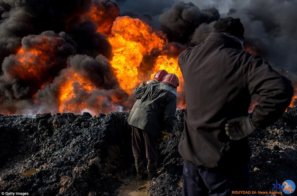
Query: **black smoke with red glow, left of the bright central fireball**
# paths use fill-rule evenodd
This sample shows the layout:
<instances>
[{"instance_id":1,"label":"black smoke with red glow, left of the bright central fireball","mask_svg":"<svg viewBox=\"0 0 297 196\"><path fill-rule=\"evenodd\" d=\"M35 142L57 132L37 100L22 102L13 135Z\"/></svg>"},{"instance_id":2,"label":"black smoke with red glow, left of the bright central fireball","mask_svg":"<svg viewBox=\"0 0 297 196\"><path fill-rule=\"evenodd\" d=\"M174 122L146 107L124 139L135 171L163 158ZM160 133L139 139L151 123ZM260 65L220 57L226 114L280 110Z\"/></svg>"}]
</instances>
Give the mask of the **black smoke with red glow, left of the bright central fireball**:
<instances>
[{"instance_id":1,"label":"black smoke with red glow, left of the bright central fireball","mask_svg":"<svg viewBox=\"0 0 297 196\"><path fill-rule=\"evenodd\" d=\"M102 19L92 20L93 11ZM0 113L59 112L60 88L69 71L96 90L83 93L74 83L75 97L66 104L85 99L87 106L94 106L94 97L102 95L104 105L113 96L127 96L113 76L105 35L119 15L115 1L1 0L0 13ZM107 27L105 34L97 31L100 25ZM96 107L100 110L100 104Z\"/></svg>"}]
</instances>

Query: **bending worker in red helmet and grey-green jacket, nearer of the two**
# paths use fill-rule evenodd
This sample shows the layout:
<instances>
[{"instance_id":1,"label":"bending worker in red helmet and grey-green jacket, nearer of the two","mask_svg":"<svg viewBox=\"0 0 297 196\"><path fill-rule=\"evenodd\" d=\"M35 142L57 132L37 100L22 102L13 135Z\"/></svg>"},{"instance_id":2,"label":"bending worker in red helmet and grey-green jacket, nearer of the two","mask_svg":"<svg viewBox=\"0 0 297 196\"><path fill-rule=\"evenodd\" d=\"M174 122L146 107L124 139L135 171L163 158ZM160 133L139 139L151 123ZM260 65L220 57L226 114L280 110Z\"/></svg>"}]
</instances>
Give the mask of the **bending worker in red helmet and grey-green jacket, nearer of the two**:
<instances>
[{"instance_id":1,"label":"bending worker in red helmet and grey-green jacket, nearer of the two","mask_svg":"<svg viewBox=\"0 0 297 196\"><path fill-rule=\"evenodd\" d=\"M148 179L152 179L158 160L157 141L162 130L173 131L176 111L178 77L168 74L159 84L146 85L134 90L139 101L129 125L132 129L132 150L135 157L137 179L143 176L143 156L148 159Z\"/></svg>"}]
</instances>

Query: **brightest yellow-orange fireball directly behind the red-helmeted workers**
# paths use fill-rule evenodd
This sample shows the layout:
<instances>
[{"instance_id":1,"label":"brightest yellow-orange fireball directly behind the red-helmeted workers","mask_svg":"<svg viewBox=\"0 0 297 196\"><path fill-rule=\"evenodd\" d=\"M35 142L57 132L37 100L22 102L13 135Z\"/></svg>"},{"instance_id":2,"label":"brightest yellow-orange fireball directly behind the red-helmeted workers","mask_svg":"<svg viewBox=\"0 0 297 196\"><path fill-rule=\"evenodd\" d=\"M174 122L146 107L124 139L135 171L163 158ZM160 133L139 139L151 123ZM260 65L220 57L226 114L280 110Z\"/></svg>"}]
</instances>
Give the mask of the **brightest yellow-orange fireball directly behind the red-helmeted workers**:
<instances>
[{"instance_id":1,"label":"brightest yellow-orange fireball directly behind the red-helmeted workers","mask_svg":"<svg viewBox=\"0 0 297 196\"><path fill-rule=\"evenodd\" d=\"M137 69L141 65L144 55L149 55L152 49L161 51L162 47L168 44L164 33L154 31L140 19L132 19L128 16L118 17L113 24L111 33L113 36L108 39L114 54L111 66L115 68L120 87L125 92L132 95L133 89L141 81L152 79L158 70L165 69L168 73L175 73L178 76L180 80L178 92L182 94L184 82L177 62L178 56L168 58L167 55L159 55L151 67L150 78L145 78ZM178 99L177 107L185 107L183 98Z\"/></svg>"}]
</instances>

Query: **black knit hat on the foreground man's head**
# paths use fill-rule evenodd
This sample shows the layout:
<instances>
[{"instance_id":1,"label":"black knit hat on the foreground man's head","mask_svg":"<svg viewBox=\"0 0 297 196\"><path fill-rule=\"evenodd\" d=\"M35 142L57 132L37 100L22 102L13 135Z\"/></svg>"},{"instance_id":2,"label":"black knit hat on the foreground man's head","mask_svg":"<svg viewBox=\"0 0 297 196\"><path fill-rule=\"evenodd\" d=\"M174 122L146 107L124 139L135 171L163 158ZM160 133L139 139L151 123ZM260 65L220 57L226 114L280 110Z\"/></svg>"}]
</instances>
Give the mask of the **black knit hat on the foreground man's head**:
<instances>
[{"instance_id":1,"label":"black knit hat on the foreground man's head","mask_svg":"<svg viewBox=\"0 0 297 196\"><path fill-rule=\"evenodd\" d=\"M244 39L243 34L245 32L245 28L239 18L220 18L215 22L213 27L215 32L231 33L234 36Z\"/></svg>"}]
</instances>

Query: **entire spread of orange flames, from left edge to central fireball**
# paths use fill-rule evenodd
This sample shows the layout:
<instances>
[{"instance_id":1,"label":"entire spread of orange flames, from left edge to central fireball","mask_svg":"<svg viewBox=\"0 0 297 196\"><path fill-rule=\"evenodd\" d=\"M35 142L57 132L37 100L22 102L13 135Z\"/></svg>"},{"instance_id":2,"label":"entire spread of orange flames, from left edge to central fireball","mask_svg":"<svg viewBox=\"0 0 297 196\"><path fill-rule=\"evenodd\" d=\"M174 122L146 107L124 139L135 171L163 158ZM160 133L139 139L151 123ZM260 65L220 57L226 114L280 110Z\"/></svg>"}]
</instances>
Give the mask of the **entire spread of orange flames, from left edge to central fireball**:
<instances>
[{"instance_id":1,"label":"entire spread of orange flames, from left edge to central fireball","mask_svg":"<svg viewBox=\"0 0 297 196\"><path fill-rule=\"evenodd\" d=\"M128 111L135 102L134 88L162 69L178 76L177 108L185 108L184 80L178 66L178 54L183 49L169 43L165 33L154 30L140 19L118 17L119 8L104 3L95 3L82 20L85 24L92 21L97 25L94 33L106 37L112 56L84 57L87 55L76 51L77 45L65 32L48 31L24 37L22 44L25 44L3 61L1 79L10 86L14 97L7 96L8 100L2 101L1 113L24 114L24 109L18 109L22 104L33 108L33 113L88 111L97 115ZM246 50L253 53L250 48ZM77 55L81 55L87 65L73 67L69 59ZM95 61L100 69L88 65L89 61ZM96 77L90 76L92 72ZM10 98L14 99L10 104L3 104ZM296 96L292 104L295 99Z\"/></svg>"}]
</instances>

